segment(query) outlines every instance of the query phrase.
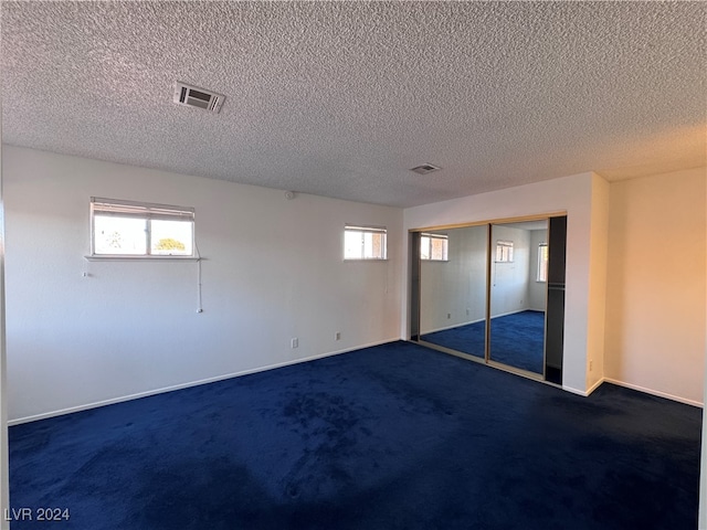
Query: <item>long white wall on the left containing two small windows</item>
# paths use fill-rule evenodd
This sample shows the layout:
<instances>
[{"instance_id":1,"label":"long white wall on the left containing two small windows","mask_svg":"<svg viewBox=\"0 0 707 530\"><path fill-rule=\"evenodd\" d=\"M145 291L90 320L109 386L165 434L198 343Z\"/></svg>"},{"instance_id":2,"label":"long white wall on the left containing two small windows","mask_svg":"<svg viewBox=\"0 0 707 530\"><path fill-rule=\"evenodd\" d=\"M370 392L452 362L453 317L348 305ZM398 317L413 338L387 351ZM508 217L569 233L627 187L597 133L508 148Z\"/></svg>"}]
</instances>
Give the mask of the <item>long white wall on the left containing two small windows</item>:
<instances>
[{"instance_id":1,"label":"long white wall on the left containing two small windows","mask_svg":"<svg viewBox=\"0 0 707 530\"><path fill-rule=\"evenodd\" d=\"M10 420L400 337L399 209L8 146L2 165ZM84 259L92 195L196 208L204 312L196 262ZM344 262L345 223L388 226L389 261Z\"/></svg>"}]
</instances>

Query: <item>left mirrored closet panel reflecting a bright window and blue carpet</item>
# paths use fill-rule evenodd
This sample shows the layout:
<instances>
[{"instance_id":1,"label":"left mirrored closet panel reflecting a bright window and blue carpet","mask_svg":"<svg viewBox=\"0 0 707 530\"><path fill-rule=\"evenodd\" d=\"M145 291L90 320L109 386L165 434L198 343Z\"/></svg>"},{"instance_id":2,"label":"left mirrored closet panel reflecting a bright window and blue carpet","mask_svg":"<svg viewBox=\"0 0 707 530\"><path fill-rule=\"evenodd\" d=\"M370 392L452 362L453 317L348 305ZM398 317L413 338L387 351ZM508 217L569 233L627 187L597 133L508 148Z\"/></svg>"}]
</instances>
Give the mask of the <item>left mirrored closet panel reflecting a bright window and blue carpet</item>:
<instances>
[{"instance_id":1,"label":"left mirrored closet panel reflecting a bright window and blue carpet","mask_svg":"<svg viewBox=\"0 0 707 530\"><path fill-rule=\"evenodd\" d=\"M485 359L488 225L420 235L420 339Z\"/></svg>"}]
</instances>

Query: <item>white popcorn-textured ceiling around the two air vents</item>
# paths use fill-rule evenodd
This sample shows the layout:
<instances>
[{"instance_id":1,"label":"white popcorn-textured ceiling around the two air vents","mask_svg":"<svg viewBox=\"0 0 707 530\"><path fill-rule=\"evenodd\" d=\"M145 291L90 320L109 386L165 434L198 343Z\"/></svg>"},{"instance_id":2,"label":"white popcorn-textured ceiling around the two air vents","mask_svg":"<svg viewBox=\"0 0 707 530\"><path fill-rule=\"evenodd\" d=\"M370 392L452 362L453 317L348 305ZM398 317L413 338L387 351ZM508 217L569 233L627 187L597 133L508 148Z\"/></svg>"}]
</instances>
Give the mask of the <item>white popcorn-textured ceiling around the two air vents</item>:
<instances>
[{"instance_id":1,"label":"white popcorn-textured ceiling around the two air vents","mask_svg":"<svg viewBox=\"0 0 707 530\"><path fill-rule=\"evenodd\" d=\"M707 163L705 2L1 9L10 145L397 206Z\"/></svg>"}]
</instances>

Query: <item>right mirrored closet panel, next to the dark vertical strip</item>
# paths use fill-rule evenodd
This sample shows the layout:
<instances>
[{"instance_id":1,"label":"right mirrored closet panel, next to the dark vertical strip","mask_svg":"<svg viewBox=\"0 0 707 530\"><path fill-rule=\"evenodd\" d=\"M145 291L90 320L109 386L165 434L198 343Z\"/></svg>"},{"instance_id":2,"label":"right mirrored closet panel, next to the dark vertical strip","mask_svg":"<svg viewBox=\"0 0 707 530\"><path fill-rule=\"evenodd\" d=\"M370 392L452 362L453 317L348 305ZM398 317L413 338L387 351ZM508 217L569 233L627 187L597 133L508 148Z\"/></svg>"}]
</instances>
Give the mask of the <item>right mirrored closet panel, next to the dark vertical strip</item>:
<instances>
[{"instance_id":1,"label":"right mirrored closet panel, next to the dark vertical strip","mask_svg":"<svg viewBox=\"0 0 707 530\"><path fill-rule=\"evenodd\" d=\"M547 220L492 225L489 360L545 373Z\"/></svg>"}]
</instances>

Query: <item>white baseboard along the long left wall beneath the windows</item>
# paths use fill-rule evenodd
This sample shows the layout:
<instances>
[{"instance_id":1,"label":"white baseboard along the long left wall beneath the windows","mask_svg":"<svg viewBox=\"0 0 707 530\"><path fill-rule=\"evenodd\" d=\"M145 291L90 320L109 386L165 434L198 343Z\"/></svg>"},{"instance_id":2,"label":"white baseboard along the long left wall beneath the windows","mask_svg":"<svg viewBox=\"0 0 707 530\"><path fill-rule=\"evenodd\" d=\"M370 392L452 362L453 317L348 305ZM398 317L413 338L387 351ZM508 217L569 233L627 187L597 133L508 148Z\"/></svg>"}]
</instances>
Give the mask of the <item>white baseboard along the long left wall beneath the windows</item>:
<instances>
[{"instance_id":1,"label":"white baseboard along the long left wall beneath the windows","mask_svg":"<svg viewBox=\"0 0 707 530\"><path fill-rule=\"evenodd\" d=\"M123 396L119 396L119 398L112 398L109 400L96 401L94 403L87 403L85 405L71 406L71 407L67 407L67 409L60 409L60 410L56 410L56 411L44 412L44 413L41 413L41 414L34 414L34 415L31 415L31 416L18 417L18 418L14 418L14 420L9 420L8 421L8 426L11 427L13 425L20 425L20 424L23 424L23 423L36 422L36 421L40 421L40 420L48 420L50 417L62 416L64 414L72 414L74 412L88 411L91 409L97 409L99 406L113 405L113 404L116 404L116 403L123 403L125 401L138 400L140 398L148 398L150 395L157 395L157 394L163 394L163 393L167 393L167 392L173 392L176 390L189 389L191 386L198 386L200 384L215 383L218 381L224 381L226 379L239 378L241 375L249 375L251 373L264 372L266 370L275 370L277 368L289 367L292 364L299 364L302 362L314 361L316 359L324 359L325 357L334 357L334 356L338 356L338 354L341 354L341 353L347 353L349 351L362 350L363 348L370 348L370 347L373 347L373 346L387 344L389 342L395 342L398 340L401 340L401 339L399 337L395 337L395 338L391 338L391 339L387 339L387 340L371 342L371 343L368 343L368 344L357 346L357 347L354 347L354 348L345 348L342 350L331 351L331 352L328 352L328 353L318 353L316 356L305 357L303 359L294 359L292 361L278 362L278 363L275 363L275 364L268 364L266 367L253 368L253 369L243 370L243 371L240 371L240 372L225 373L223 375L215 375L213 378L201 379L199 381L190 381L188 383L180 383L180 384L175 384L175 385L170 385L170 386L163 386L161 389L148 390L146 392L138 392L136 394L129 394L129 395L123 395Z\"/></svg>"}]
</instances>

